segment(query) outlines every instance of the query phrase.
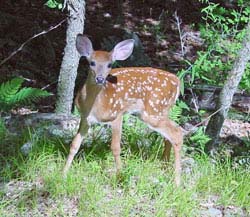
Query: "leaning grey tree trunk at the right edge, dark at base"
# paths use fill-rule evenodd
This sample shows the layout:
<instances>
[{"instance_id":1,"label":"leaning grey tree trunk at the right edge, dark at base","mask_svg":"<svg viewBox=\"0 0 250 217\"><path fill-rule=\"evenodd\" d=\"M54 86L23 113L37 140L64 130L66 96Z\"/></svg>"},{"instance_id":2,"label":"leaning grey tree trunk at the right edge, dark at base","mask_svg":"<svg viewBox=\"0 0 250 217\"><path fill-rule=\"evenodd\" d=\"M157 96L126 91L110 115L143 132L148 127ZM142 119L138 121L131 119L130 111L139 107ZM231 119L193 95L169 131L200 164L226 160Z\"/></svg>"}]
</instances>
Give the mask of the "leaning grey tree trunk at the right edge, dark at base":
<instances>
[{"instance_id":1,"label":"leaning grey tree trunk at the right edge, dark at base","mask_svg":"<svg viewBox=\"0 0 250 217\"><path fill-rule=\"evenodd\" d=\"M206 134L210 136L211 141L206 145L206 152L212 152L218 143L218 138L228 110L232 103L233 95L237 90L239 82L244 74L247 62L250 60L250 22L246 28L246 35L242 43L242 48L234 62L232 70L228 74L228 78L221 90L217 109L219 112L214 115L206 128Z\"/></svg>"}]
</instances>

